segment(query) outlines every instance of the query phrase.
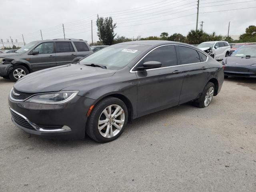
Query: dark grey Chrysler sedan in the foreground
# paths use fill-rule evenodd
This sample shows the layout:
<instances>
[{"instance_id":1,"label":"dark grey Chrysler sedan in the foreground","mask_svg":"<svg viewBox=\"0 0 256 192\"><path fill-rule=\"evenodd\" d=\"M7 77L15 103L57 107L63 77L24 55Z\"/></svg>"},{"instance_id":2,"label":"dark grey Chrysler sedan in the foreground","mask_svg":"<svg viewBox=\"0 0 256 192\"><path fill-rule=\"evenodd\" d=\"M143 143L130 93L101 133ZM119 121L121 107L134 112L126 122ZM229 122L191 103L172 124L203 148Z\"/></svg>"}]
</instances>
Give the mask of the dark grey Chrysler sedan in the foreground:
<instances>
[{"instance_id":1,"label":"dark grey Chrysler sedan in the foreground","mask_svg":"<svg viewBox=\"0 0 256 192\"><path fill-rule=\"evenodd\" d=\"M170 41L134 41L99 50L80 64L34 72L9 96L12 121L30 134L110 142L140 116L193 101L209 106L223 66L200 49Z\"/></svg>"}]
</instances>

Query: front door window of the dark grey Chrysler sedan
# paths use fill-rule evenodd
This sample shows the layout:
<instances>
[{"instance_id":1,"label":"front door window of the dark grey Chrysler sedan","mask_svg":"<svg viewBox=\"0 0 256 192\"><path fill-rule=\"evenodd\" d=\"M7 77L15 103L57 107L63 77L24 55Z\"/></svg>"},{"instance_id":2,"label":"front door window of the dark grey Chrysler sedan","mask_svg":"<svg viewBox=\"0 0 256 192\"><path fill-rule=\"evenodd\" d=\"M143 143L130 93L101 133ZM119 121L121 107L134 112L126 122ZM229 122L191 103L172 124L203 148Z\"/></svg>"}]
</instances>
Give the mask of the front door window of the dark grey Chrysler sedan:
<instances>
[{"instance_id":1,"label":"front door window of the dark grey Chrysler sedan","mask_svg":"<svg viewBox=\"0 0 256 192\"><path fill-rule=\"evenodd\" d=\"M144 62L148 62L148 61L158 61L162 63L161 67L177 65L177 56L176 56L175 47L173 45L169 45L169 46L162 46L162 47L156 48L155 50L150 52L140 62L140 64L138 64L138 67L142 66Z\"/></svg>"}]
</instances>

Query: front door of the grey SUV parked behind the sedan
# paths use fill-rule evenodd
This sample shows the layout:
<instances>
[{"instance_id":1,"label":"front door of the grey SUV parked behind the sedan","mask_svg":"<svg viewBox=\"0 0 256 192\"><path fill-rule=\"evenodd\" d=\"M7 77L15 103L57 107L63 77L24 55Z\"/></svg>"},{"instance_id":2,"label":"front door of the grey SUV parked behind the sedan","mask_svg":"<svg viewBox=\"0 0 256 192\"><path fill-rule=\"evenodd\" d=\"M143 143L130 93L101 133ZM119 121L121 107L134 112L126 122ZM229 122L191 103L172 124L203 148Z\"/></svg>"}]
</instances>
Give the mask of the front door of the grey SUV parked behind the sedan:
<instances>
[{"instance_id":1,"label":"front door of the grey SUV parked behind the sedan","mask_svg":"<svg viewBox=\"0 0 256 192\"><path fill-rule=\"evenodd\" d=\"M36 48L34 48L33 50L39 51L39 54L30 54L29 62L32 66L33 72L56 66L54 42L43 42L36 46Z\"/></svg>"}]
</instances>

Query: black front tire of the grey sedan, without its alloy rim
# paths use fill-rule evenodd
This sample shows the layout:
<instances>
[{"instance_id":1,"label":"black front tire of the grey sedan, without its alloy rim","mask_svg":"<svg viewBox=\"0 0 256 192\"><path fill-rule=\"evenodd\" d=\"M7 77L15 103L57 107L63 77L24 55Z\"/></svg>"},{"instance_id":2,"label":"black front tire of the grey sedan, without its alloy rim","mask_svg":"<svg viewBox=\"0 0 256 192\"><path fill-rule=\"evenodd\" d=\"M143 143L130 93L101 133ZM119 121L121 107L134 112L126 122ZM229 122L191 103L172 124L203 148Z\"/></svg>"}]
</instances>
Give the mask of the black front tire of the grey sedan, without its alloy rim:
<instances>
[{"instance_id":1,"label":"black front tire of the grey sedan, without its alloy rim","mask_svg":"<svg viewBox=\"0 0 256 192\"><path fill-rule=\"evenodd\" d=\"M114 104L121 106L122 109L124 110L124 114L125 114L124 125L123 125L122 129L120 130L120 132L116 136L114 136L112 138L104 138L98 130L98 120L100 118L100 114L102 113L102 111L107 106L114 105ZM124 131L124 129L126 127L127 121L128 121L128 110L127 110L127 107L124 104L124 102L122 102L122 100L120 100L118 98L114 98L114 97L106 98L106 99L100 101L98 104L96 104L96 106L94 107L94 109L92 110L92 112L90 114L88 126L89 126L89 130L90 130L90 134L93 134L93 135L90 136L90 134L89 134L89 136L92 139L96 140L97 142L101 142L101 143L110 142L112 140L115 140L122 134L122 132Z\"/></svg>"}]
</instances>

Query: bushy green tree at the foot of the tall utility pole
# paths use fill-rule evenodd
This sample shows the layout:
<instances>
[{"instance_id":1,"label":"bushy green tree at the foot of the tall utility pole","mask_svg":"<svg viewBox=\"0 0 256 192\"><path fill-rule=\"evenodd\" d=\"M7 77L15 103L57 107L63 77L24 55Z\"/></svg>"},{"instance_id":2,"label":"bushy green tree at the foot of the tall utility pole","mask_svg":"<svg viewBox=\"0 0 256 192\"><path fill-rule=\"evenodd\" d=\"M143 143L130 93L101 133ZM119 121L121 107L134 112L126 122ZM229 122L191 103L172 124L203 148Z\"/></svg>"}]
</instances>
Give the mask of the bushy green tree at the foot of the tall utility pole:
<instances>
[{"instance_id":1,"label":"bushy green tree at the foot of the tall utility pole","mask_svg":"<svg viewBox=\"0 0 256 192\"><path fill-rule=\"evenodd\" d=\"M190 30L187 35L188 44L200 44L207 40L208 34L203 32L202 30Z\"/></svg>"}]
</instances>

